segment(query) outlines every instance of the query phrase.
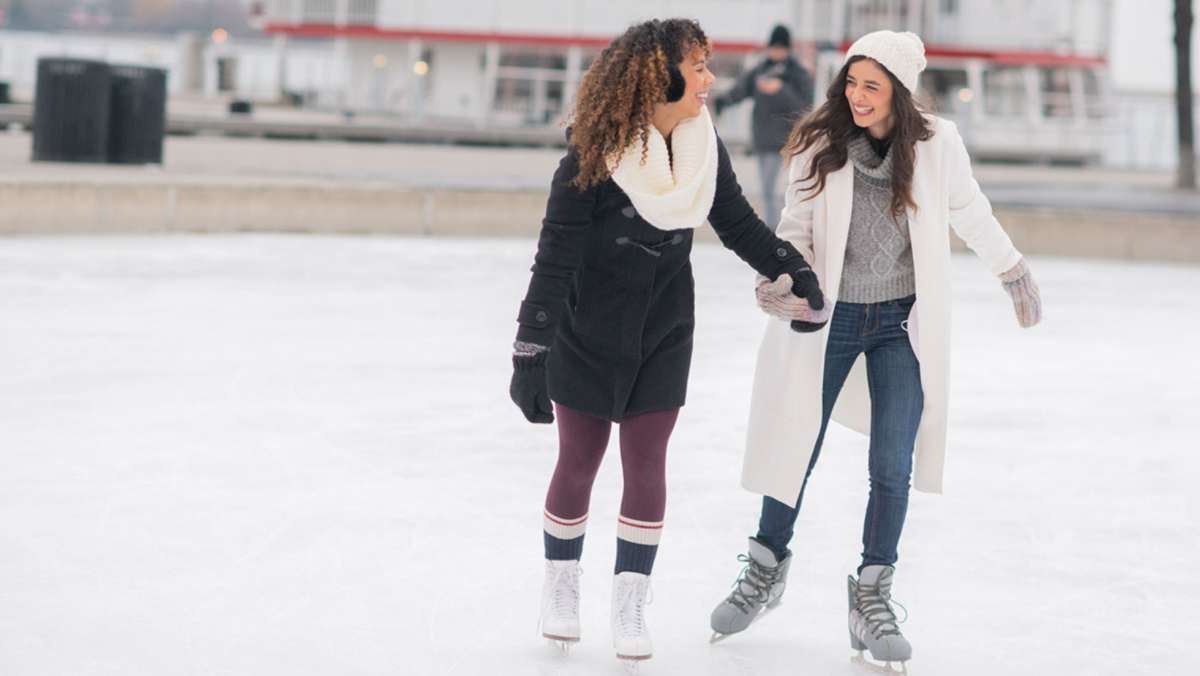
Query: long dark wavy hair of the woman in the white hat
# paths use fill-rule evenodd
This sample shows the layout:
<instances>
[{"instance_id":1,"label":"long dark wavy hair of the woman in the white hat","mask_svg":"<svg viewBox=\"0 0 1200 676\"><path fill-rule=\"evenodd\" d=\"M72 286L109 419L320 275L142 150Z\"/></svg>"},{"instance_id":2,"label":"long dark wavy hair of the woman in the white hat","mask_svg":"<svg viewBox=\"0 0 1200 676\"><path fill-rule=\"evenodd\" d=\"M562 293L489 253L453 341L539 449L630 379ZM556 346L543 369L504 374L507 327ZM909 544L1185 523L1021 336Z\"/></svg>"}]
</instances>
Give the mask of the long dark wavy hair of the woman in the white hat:
<instances>
[{"instance_id":1,"label":"long dark wavy hair of the woman in the white hat","mask_svg":"<svg viewBox=\"0 0 1200 676\"><path fill-rule=\"evenodd\" d=\"M854 124L854 115L846 98L846 76L850 73L850 66L864 59L866 56L852 56L846 61L846 65L838 71L838 77L829 83L826 102L792 127L792 134L782 150L784 158L790 164L797 155L809 148L817 149L812 155L808 174L800 178L803 183L815 181L816 185L816 190L805 199L812 199L824 190L826 177L846 166L850 142L856 136L868 133L865 128ZM900 84L890 71L878 61L876 64L892 80L892 118L895 120L895 126L892 128L892 146L888 152L892 154L892 219L899 226L899 217L905 213L905 208L917 210L917 203L912 199L917 142L934 138L934 130L922 114L925 107L918 106L912 92Z\"/></svg>"}]
</instances>

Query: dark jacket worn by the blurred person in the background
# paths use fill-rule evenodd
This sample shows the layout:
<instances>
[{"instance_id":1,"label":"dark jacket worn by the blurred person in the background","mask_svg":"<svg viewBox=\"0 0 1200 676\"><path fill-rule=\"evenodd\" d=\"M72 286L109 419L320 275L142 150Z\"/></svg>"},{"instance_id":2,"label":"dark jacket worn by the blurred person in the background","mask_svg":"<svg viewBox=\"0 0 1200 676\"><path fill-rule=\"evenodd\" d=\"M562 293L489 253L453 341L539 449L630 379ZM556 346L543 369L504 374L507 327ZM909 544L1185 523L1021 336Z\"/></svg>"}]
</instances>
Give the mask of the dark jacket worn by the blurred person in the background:
<instances>
[{"instance_id":1,"label":"dark jacket worn by the blurred person in the background","mask_svg":"<svg viewBox=\"0 0 1200 676\"><path fill-rule=\"evenodd\" d=\"M775 94L766 94L757 86L760 78L778 78L782 88ZM812 107L812 76L791 54L782 61L763 59L742 73L728 91L716 97L716 114L751 96L754 149L756 152L779 152L787 144L796 118Z\"/></svg>"}]
</instances>

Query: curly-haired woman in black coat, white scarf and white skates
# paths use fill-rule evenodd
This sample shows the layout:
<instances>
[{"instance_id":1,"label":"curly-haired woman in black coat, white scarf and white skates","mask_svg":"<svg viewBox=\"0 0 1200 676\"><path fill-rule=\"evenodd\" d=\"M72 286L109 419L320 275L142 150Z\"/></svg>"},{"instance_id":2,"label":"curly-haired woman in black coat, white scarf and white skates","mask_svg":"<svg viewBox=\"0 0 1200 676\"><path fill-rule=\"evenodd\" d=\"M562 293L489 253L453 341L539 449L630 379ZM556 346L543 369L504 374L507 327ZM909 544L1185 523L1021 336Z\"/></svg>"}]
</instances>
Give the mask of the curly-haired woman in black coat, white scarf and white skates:
<instances>
[{"instance_id":1,"label":"curly-haired woman in black coat, white scarf and white skates","mask_svg":"<svg viewBox=\"0 0 1200 676\"><path fill-rule=\"evenodd\" d=\"M564 653L580 640L578 562L592 484L619 423L613 644L628 664L652 654L644 606L662 532L667 439L691 363L695 228L707 220L760 274L786 275L781 283L805 309L796 330L828 319L809 264L742 195L706 108L710 56L696 22L652 20L617 37L592 65L517 317L510 395L529 421L558 423L542 521L542 633Z\"/></svg>"}]
</instances>

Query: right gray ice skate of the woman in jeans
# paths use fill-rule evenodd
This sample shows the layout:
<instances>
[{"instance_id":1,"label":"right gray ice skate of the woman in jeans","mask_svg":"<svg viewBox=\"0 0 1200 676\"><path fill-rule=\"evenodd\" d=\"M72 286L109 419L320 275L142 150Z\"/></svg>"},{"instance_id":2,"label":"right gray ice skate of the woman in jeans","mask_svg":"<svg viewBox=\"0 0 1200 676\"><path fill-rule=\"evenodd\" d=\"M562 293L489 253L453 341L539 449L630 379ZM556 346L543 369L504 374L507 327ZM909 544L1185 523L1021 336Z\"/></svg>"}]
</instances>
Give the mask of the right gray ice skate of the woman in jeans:
<instances>
[{"instance_id":1,"label":"right gray ice skate of the woman in jeans","mask_svg":"<svg viewBox=\"0 0 1200 676\"><path fill-rule=\"evenodd\" d=\"M880 674L904 675L908 672L905 662L912 657L912 646L900 633L901 621L896 620L892 610L894 573L895 569L890 566L868 566L859 573L857 581L853 575L846 578L850 597L850 647L858 651L851 662ZM863 651L870 651L871 659L882 662L883 665L868 662ZM893 662L900 663L900 671L892 668Z\"/></svg>"}]
</instances>

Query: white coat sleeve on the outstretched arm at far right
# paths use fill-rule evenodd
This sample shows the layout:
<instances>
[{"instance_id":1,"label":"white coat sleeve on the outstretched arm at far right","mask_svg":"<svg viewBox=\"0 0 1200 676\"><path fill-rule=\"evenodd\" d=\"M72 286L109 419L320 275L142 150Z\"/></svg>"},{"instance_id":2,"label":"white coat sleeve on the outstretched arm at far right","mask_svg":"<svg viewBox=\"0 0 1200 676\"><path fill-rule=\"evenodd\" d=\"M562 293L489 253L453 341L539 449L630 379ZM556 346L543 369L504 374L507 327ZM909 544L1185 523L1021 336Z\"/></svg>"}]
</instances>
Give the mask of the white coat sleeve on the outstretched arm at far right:
<instances>
[{"instance_id":1,"label":"white coat sleeve on the outstretched arm at far right","mask_svg":"<svg viewBox=\"0 0 1200 676\"><path fill-rule=\"evenodd\" d=\"M1000 275L1016 265L1021 253L1013 246L1008 233L992 215L991 202L979 190L979 184L971 172L971 156L967 155L958 128L947 120L940 120L938 127L941 128L936 133L947 136L950 227L971 251L988 263L994 275Z\"/></svg>"}]
</instances>

